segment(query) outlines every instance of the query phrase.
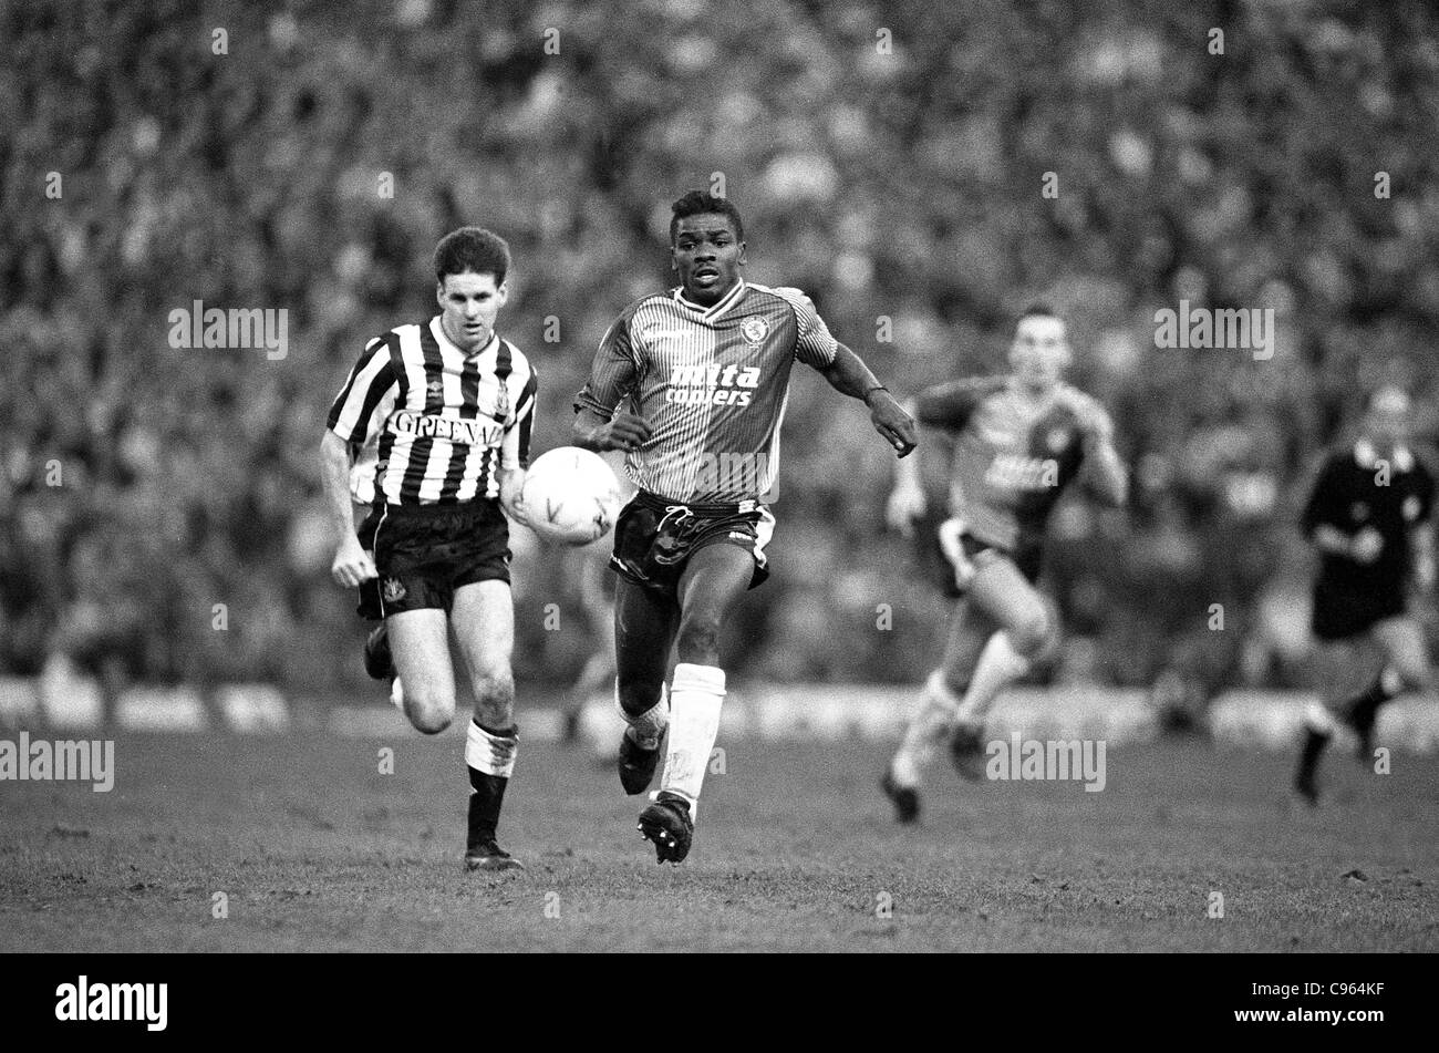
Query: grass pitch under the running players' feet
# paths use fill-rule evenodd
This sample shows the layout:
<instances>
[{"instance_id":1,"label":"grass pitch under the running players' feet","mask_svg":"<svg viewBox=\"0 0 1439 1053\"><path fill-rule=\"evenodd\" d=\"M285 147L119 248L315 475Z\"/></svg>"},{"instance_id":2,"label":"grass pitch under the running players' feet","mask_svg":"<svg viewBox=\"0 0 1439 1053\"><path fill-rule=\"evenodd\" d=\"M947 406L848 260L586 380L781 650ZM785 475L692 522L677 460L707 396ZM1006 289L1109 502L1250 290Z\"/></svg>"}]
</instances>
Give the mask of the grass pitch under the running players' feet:
<instances>
[{"instance_id":1,"label":"grass pitch under the running players' feet","mask_svg":"<svg viewBox=\"0 0 1439 1053\"><path fill-rule=\"evenodd\" d=\"M0 783L0 951L1439 949L1433 758L1334 755L1317 811L1291 757L1200 742L1111 749L1104 793L937 764L902 829L888 747L724 745L661 867L612 765L522 744L528 870L482 876L455 735L121 737L108 794Z\"/></svg>"}]
</instances>

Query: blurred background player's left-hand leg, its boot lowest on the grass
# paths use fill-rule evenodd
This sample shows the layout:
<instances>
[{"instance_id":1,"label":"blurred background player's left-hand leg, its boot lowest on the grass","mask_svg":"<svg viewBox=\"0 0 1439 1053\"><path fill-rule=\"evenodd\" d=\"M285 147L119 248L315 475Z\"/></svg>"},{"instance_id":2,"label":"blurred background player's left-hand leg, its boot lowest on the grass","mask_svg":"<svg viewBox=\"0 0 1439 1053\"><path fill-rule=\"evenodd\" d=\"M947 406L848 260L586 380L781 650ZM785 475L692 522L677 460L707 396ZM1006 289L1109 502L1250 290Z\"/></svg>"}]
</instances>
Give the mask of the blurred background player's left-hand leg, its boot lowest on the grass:
<instances>
[{"instance_id":1,"label":"blurred background player's left-hand leg, its boot lowest on the grass","mask_svg":"<svg viewBox=\"0 0 1439 1053\"><path fill-rule=\"evenodd\" d=\"M885 770L881 788L895 806L895 819L912 823L920 817L920 785L934 751L954 728L960 699L968 688L990 624L980 611L960 598L950 613L950 630L940 667L930 673L920 693L918 709L905 726L904 738Z\"/></svg>"}]
</instances>

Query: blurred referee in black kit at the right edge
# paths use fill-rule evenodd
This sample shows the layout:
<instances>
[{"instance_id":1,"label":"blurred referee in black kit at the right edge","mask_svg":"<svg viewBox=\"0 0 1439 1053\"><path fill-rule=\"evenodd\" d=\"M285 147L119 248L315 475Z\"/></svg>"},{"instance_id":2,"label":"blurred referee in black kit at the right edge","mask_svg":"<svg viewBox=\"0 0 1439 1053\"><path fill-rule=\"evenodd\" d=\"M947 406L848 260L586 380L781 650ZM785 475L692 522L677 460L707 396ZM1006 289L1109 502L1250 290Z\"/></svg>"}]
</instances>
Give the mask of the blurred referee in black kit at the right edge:
<instances>
[{"instance_id":1,"label":"blurred referee in black kit at the right edge","mask_svg":"<svg viewBox=\"0 0 1439 1053\"><path fill-rule=\"evenodd\" d=\"M1358 758L1368 761L1380 706L1404 690L1433 688L1423 627L1406 597L1410 577L1426 593L1435 585L1433 476L1407 445L1410 409L1397 387L1374 391L1358 440L1328 455L1304 508L1304 535L1320 552L1315 637L1331 644L1331 659L1333 644L1361 642L1384 656L1361 692L1309 708L1294 777L1309 804L1318 803L1320 758L1335 719L1354 731Z\"/></svg>"}]
</instances>

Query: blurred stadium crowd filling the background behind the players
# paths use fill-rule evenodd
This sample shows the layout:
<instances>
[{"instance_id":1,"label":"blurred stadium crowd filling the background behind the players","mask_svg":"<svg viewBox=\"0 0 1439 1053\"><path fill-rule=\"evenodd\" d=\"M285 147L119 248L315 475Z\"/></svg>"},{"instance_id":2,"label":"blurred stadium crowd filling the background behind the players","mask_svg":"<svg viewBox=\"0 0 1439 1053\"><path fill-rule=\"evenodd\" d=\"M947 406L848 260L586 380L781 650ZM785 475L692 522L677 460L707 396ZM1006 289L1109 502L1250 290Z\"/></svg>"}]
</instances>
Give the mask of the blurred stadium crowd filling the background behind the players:
<instances>
[{"instance_id":1,"label":"blurred stadium crowd filling the background behind the players","mask_svg":"<svg viewBox=\"0 0 1439 1053\"><path fill-rule=\"evenodd\" d=\"M715 173L750 276L810 292L899 393L1002 368L1035 296L1068 312L1073 380L1114 410L1137 485L1127 515L1058 515L1063 680L1202 699L1302 678L1307 473L1380 380L1433 394L1420 6L191 7L0 16L4 673L66 655L112 682L374 693L317 476L363 342L433 312L440 234L494 227L537 452L561 445L604 327L668 281L668 203ZM1181 298L1272 308L1274 358L1157 348ZM171 348L168 312L196 299L286 309L286 355ZM918 682L944 608L884 532L892 455L807 371L783 455L778 573L734 626L735 673ZM591 646L564 632L584 626L573 562L517 555L521 683Z\"/></svg>"}]
</instances>

